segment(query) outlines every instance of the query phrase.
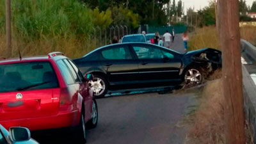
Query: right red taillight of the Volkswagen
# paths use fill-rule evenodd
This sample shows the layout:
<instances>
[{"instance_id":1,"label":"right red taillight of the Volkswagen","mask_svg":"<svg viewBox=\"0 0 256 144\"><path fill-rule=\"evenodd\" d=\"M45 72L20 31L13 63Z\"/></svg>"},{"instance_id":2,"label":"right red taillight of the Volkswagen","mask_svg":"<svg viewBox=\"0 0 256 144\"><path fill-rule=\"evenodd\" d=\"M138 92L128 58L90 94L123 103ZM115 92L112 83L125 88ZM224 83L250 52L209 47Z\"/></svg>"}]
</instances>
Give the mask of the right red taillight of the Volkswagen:
<instances>
[{"instance_id":1,"label":"right red taillight of the Volkswagen","mask_svg":"<svg viewBox=\"0 0 256 144\"><path fill-rule=\"evenodd\" d=\"M72 96L68 92L67 88L61 88L60 90L60 112L68 112L74 110L72 104Z\"/></svg>"}]
</instances>

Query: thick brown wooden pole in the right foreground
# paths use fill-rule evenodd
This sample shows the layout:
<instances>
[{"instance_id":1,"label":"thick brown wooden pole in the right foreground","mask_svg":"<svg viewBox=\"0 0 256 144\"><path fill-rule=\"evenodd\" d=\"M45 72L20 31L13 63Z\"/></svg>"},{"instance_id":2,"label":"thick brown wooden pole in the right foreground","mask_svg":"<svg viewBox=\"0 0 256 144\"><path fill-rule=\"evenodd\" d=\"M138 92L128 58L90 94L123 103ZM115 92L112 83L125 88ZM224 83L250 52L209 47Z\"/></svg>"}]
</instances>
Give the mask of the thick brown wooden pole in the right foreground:
<instances>
[{"instance_id":1,"label":"thick brown wooden pole in the right foreground","mask_svg":"<svg viewBox=\"0 0 256 144\"><path fill-rule=\"evenodd\" d=\"M222 50L225 134L227 144L244 144L243 79L237 0L218 0L219 36Z\"/></svg>"}]
</instances>

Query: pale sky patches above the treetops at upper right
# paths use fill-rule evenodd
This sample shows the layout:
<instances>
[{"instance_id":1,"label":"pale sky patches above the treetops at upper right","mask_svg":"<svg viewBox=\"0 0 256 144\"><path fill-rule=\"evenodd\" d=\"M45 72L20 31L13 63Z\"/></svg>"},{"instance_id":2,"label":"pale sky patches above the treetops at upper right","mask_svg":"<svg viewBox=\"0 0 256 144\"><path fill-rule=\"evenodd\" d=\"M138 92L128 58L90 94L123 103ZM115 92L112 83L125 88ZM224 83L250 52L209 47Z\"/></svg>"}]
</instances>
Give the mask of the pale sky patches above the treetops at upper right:
<instances>
[{"instance_id":1,"label":"pale sky patches above the treetops at upper right","mask_svg":"<svg viewBox=\"0 0 256 144\"><path fill-rule=\"evenodd\" d=\"M200 8L204 8L209 4L209 0L182 0L185 3L185 12L186 8L193 8L195 6L195 10L200 10ZM255 0L246 0L247 5L252 6L252 2Z\"/></svg>"}]
</instances>

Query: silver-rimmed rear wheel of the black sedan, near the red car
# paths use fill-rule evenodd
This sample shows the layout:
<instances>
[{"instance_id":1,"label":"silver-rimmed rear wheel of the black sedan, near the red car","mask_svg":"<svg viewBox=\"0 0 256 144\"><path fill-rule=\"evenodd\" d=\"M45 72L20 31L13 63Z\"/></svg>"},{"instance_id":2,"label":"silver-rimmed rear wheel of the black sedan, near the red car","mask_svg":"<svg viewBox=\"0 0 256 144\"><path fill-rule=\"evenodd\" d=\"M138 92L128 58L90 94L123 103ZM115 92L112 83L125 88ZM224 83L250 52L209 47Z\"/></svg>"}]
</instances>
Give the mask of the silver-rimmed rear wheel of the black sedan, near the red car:
<instances>
[{"instance_id":1,"label":"silver-rimmed rear wheel of the black sedan, near the red car","mask_svg":"<svg viewBox=\"0 0 256 144\"><path fill-rule=\"evenodd\" d=\"M94 75L90 85L93 88L93 97L96 99L104 97L108 92L108 81L103 76Z\"/></svg>"}]
</instances>

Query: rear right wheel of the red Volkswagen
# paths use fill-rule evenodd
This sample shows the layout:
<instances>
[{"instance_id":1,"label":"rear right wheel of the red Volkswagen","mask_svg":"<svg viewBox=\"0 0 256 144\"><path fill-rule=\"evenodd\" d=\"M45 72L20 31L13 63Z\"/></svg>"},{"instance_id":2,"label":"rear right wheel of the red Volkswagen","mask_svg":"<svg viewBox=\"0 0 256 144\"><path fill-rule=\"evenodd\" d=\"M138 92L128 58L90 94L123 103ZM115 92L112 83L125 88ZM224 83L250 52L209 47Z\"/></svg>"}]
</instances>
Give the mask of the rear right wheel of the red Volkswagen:
<instances>
[{"instance_id":1,"label":"rear right wheel of the red Volkswagen","mask_svg":"<svg viewBox=\"0 0 256 144\"><path fill-rule=\"evenodd\" d=\"M74 129L74 138L78 140L79 143L86 143L86 124L84 122L84 113L81 113L81 118L79 125Z\"/></svg>"}]
</instances>

